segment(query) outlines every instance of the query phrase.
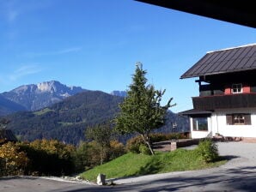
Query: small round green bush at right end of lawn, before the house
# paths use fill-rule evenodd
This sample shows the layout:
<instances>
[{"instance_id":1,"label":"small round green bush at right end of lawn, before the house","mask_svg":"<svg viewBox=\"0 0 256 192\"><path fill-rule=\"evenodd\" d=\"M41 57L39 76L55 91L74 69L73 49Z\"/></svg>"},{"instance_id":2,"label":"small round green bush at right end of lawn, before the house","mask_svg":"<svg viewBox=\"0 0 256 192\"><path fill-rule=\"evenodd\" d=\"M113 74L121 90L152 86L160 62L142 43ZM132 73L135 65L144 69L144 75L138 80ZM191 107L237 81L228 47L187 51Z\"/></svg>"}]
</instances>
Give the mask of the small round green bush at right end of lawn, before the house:
<instances>
[{"instance_id":1,"label":"small round green bush at right end of lawn, before the house","mask_svg":"<svg viewBox=\"0 0 256 192\"><path fill-rule=\"evenodd\" d=\"M216 143L210 139L199 141L198 148L196 150L198 157L205 163L213 162L219 157Z\"/></svg>"}]
</instances>

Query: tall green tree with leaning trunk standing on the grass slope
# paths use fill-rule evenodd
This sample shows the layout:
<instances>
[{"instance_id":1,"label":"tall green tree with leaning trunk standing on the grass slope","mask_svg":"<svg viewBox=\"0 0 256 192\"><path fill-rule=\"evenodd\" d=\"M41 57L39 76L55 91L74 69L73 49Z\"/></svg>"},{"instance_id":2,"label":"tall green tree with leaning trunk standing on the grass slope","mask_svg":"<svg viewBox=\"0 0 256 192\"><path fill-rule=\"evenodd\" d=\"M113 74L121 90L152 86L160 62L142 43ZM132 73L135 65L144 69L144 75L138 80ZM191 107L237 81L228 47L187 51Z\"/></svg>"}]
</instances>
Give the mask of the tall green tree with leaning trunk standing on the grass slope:
<instances>
[{"instance_id":1,"label":"tall green tree with leaning trunk standing on the grass slope","mask_svg":"<svg viewBox=\"0 0 256 192\"><path fill-rule=\"evenodd\" d=\"M120 112L115 117L115 129L121 134L137 133L142 136L143 141L149 147L152 154L149 133L152 129L158 129L165 124L165 117L173 98L168 104L161 106L162 95L165 90L155 90L153 85L146 85L146 70L143 70L142 63L137 63L135 74L132 76L132 83L127 91L127 97L119 105ZM175 104L174 104L175 105Z\"/></svg>"}]
</instances>

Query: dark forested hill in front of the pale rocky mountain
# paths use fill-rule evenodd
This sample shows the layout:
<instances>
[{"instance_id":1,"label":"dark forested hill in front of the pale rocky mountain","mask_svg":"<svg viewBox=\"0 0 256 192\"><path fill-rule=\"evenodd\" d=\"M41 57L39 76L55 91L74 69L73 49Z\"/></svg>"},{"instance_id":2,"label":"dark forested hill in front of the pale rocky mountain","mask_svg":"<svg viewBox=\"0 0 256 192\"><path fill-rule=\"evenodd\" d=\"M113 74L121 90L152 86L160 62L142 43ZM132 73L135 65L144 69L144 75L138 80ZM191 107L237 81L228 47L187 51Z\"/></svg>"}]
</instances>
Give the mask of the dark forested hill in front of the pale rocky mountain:
<instances>
[{"instance_id":1,"label":"dark forested hill in front of the pale rocky mountain","mask_svg":"<svg viewBox=\"0 0 256 192\"><path fill-rule=\"evenodd\" d=\"M84 130L88 126L113 119L123 99L101 91L77 93L40 111L10 114L7 116L10 120L8 128L12 129L22 141L52 138L77 144L84 140ZM185 117L178 117L169 111L167 118L167 124L160 131L187 131L188 121ZM177 127L172 129L174 122Z\"/></svg>"}]
</instances>

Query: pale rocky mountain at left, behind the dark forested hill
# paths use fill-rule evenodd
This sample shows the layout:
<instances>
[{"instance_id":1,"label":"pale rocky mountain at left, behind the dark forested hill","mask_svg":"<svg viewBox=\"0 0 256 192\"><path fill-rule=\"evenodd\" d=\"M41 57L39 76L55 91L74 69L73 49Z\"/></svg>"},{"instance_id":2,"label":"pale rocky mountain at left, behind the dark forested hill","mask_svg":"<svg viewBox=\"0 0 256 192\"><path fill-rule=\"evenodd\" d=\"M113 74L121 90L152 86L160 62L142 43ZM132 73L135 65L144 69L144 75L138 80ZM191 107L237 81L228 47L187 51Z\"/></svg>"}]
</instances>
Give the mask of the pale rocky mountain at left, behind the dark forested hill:
<instances>
[{"instance_id":1,"label":"pale rocky mountain at left, behind the dark forested hill","mask_svg":"<svg viewBox=\"0 0 256 192\"><path fill-rule=\"evenodd\" d=\"M68 87L58 81L24 85L0 94L0 97L9 100L5 107L0 103L2 111L0 115L9 114L12 111L37 111L84 91L86 89L82 87Z\"/></svg>"}]
</instances>

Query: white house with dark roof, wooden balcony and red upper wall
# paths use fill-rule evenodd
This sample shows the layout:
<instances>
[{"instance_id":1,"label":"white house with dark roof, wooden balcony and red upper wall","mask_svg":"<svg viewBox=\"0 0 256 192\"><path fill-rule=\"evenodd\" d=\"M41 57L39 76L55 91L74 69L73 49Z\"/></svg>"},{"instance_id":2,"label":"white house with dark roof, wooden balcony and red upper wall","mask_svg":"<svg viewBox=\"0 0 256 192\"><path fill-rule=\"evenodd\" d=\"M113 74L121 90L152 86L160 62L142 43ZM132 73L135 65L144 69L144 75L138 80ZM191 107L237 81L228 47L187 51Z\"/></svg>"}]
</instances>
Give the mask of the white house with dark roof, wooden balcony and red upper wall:
<instances>
[{"instance_id":1,"label":"white house with dark roof, wooden balcony and red upper wall","mask_svg":"<svg viewBox=\"0 0 256 192\"><path fill-rule=\"evenodd\" d=\"M198 77L190 118L192 138L220 134L256 138L256 44L207 52L181 79Z\"/></svg>"}]
</instances>

